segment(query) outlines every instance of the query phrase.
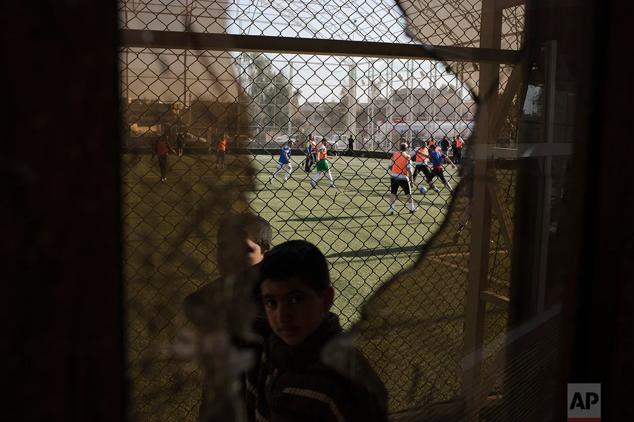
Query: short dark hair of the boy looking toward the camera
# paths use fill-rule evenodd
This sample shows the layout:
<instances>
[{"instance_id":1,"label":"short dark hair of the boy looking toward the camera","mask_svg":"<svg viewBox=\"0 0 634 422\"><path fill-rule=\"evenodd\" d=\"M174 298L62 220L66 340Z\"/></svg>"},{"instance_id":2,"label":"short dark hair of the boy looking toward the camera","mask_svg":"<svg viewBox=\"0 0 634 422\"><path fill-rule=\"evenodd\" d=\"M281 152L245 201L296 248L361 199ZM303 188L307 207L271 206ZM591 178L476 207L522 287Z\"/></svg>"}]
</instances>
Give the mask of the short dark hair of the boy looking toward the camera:
<instances>
[{"instance_id":1,"label":"short dark hair of the boy looking toward the camera","mask_svg":"<svg viewBox=\"0 0 634 422\"><path fill-rule=\"evenodd\" d=\"M289 240L275 246L259 264L259 283L299 277L318 295L330 286L328 262L323 253L306 240ZM258 289L259 290L259 289Z\"/></svg>"}]
</instances>

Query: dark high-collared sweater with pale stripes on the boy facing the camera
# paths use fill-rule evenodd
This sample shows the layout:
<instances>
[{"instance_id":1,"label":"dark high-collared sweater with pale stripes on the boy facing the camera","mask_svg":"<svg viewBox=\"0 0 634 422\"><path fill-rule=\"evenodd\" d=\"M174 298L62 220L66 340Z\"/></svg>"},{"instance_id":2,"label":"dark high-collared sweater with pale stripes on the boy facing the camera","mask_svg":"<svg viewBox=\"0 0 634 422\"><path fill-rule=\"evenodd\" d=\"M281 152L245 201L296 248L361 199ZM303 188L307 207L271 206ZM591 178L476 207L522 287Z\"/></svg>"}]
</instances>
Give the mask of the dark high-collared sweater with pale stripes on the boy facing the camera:
<instances>
[{"instance_id":1,"label":"dark high-collared sweater with pale stripes on the boy facing the camera","mask_svg":"<svg viewBox=\"0 0 634 422\"><path fill-rule=\"evenodd\" d=\"M321 362L321 348L342 332L335 314L295 347L257 325L262 341L245 374L249 422L387 421L387 390L358 350L354 380Z\"/></svg>"}]
</instances>

